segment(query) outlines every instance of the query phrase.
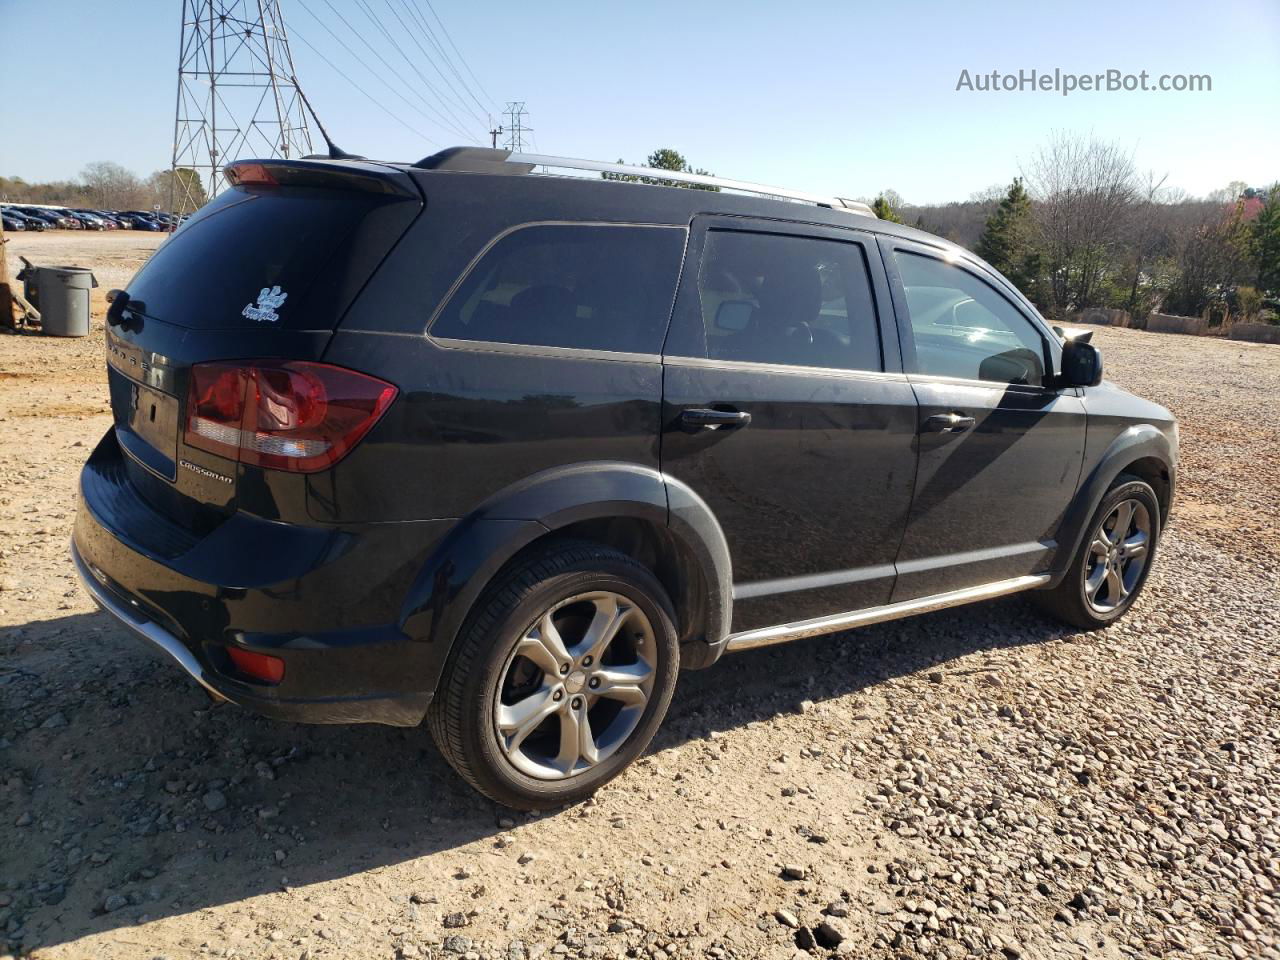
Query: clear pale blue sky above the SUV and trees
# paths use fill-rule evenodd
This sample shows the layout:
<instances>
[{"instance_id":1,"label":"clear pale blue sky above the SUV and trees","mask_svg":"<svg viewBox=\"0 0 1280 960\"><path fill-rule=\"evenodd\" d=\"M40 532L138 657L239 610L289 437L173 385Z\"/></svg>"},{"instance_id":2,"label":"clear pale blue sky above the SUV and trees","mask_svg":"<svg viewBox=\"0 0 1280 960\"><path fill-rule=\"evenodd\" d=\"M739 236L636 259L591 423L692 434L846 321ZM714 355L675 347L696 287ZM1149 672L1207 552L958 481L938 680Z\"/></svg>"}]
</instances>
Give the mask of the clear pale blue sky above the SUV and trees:
<instances>
[{"instance_id":1,"label":"clear pale blue sky above the SUV and trees","mask_svg":"<svg viewBox=\"0 0 1280 960\"><path fill-rule=\"evenodd\" d=\"M540 152L639 163L675 147L722 177L852 197L895 189L910 204L1007 183L1060 131L1115 141L1139 170L1190 195L1280 179L1277 0L430 0L480 101L454 81L480 114L456 104L461 132L428 109L435 100L415 69L436 74L392 15L415 23L412 4L435 26L428 0L279 3L300 82L329 133L376 159L416 160L465 143L461 133L488 143L485 114L524 100ZM0 58L0 175L74 178L95 160L142 175L166 168L180 10L180 0L0 0L10 40ZM38 61L23 54L35 49ZM1208 74L1212 90L956 90L963 70L977 84L979 74L1020 69L1147 70L1152 83Z\"/></svg>"}]
</instances>

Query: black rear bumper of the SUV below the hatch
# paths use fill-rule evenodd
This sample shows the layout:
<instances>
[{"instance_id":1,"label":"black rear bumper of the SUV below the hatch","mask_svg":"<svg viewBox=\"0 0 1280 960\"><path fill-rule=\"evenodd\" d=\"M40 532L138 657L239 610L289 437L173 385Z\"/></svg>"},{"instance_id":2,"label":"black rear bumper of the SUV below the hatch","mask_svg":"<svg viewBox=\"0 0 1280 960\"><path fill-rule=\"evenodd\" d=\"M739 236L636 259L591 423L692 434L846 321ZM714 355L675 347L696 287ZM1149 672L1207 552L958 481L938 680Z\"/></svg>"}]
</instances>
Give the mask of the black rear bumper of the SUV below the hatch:
<instances>
[{"instance_id":1,"label":"black rear bumper of the SUV below the hatch","mask_svg":"<svg viewBox=\"0 0 1280 960\"><path fill-rule=\"evenodd\" d=\"M150 507L131 488L108 497L93 476L113 454L104 442L84 467L72 539L84 589L104 611L215 699L266 717L422 721L443 652L407 636L398 612L435 524L303 527L233 515L163 556L148 544L174 541L155 532ZM284 660L283 680L241 673L233 645Z\"/></svg>"}]
</instances>

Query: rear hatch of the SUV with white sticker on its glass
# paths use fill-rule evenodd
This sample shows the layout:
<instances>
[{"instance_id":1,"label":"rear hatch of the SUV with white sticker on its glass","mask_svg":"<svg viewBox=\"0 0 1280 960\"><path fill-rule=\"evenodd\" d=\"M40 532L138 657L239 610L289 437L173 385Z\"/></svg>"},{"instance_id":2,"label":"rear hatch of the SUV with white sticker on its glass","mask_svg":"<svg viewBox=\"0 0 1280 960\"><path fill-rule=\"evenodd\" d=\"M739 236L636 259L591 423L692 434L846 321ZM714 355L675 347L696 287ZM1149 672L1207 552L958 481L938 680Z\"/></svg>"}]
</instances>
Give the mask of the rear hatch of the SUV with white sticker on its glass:
<instances>
[{"instance_id":1,"label":"rear hatch of the SUV with white sticker on its glass","mask_svg":"<svg viewBox=\"0 0 1280 960\"><path fill-rule=\"evenodd\" d=\"M246 465L234 440L186 433L191 389L216 406L218 390L237 383L234 361L271 369L273 383L305 385L282 364L320 358L422 209L412 180L378 164L239 163L228 179L234 186L166 239L111 303L108 380L122 456L110 477L97 477L111 489L86 489L116 509L131 499L122 494L137 494L196 536L237 508L246 477L264 467Z\"/></svg>"}]
</instances>

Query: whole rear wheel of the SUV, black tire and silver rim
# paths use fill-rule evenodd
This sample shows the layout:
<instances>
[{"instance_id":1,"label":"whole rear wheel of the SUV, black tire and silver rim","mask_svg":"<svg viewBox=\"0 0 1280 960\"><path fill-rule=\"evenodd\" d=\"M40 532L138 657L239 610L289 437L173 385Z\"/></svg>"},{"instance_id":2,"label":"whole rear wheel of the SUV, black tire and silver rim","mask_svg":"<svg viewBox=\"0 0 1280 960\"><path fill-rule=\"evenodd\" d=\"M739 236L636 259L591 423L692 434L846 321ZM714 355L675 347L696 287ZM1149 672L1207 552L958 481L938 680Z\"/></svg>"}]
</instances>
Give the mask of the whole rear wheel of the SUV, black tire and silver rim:
<instances>
[{"instance_id":1,"label":"whole rear wheel of the SUV, black tire and silver rim","mask_svg":"<svg viewBox=\"0 0 1280 960\"><path fill-rule=\"evenodd\" d=\"M671 600L626 554L559 543L476 602L428 722L451 765L517 809L577 803L653 740L676 687Z\"/></svg>"}]
</instances>

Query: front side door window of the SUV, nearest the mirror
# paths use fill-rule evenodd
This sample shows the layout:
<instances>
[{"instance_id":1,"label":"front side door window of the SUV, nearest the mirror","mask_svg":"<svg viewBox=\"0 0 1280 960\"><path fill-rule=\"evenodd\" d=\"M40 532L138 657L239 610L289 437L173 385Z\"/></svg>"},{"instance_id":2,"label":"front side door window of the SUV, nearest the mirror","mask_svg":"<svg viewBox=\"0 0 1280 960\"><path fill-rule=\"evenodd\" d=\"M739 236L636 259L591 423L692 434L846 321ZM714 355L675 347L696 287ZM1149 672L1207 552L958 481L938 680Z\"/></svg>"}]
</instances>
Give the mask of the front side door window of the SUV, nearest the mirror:
<instances>
[{"instance_id":1,"label":"front side door window of the SUV, nearest the mirror","mask_svg":"<svg viewBox=\"0 0 1280 960\"><path fill-rule=\"evenodd\" d=\"M952 264L895 253L911 315L918 372L965 380L1044 381L1044 340L995 289Z\"/></svg>"}]
</instances>

